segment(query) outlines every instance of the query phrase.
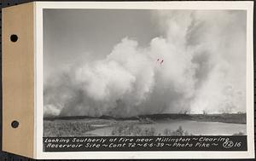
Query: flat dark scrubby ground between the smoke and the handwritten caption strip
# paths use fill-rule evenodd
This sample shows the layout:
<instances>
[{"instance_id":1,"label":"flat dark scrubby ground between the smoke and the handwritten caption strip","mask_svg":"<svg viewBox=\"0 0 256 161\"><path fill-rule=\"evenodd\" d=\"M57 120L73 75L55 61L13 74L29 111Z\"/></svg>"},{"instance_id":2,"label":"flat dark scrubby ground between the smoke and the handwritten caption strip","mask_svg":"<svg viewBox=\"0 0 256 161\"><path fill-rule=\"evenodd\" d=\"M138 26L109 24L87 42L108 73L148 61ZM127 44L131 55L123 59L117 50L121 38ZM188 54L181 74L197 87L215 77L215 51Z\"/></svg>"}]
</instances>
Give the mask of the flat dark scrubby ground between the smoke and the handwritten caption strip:
<instances>
[{"instance_id":1,"label":"flat dark scrubby ground between the smoke and the handwritten caption strip","mask_svg":"<svg viewBox=\"0 0 256 161\"><path fill-rule=\"evenodd\" d=\"M108 135L193 135L182 126L176 129L166 128L157 132L148 124L171 123L172 121L219 122L228 124L246 124L246 113L229 114L154 114L132 118L113 118L102 116L91 118L58 117L44 118L44 136L84 136L95 135L90 131L111 130ZM149 127L149 128L148 128ZM197 127L199 128L199 127ZM237 131L233 135L245 135Z\"/></svg>"}]
</instances>

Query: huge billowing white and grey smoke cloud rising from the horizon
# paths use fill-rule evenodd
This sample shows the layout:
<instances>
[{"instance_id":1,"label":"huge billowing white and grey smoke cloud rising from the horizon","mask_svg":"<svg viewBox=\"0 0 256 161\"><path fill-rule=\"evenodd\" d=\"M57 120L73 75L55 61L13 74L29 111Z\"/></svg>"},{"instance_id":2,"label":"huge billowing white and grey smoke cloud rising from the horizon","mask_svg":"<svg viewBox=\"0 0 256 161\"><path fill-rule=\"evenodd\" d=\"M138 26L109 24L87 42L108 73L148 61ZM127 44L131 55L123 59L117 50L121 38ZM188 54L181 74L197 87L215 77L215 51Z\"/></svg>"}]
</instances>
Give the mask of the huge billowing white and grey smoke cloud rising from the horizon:
<instances>
[{"instance_id":1,"label":"huge billowing white and grey smoke cloud rising from the horizon","mask_svg":"<svg viewBox=\"0 0 256 161\"><path fill-rule=\"evenodd\" d=\"M44 116L245 112L246 14L152 14L165 34L148 47L127 36L105 59L75 64L45 80Z\"/></svg>"}]
</instances>

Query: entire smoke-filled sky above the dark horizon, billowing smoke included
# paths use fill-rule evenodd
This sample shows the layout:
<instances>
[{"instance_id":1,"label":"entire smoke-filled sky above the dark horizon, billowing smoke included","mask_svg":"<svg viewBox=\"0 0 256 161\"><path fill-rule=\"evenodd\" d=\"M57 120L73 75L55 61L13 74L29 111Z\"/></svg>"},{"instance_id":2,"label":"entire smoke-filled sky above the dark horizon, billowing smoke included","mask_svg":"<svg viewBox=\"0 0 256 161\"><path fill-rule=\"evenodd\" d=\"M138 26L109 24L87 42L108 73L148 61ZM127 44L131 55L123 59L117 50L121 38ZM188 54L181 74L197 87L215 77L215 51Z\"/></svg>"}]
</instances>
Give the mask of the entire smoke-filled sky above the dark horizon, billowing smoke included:
<instances>
[{"instance_id":1,"label":"entire smoke-filled sky above the dark horizon, billowing smoke included","mask_svg":"<svg viewBox=\"0 0 256 161\"><path fill-rule=\"evenodd\" d=\"M246 16L44 9L44 115L245 112Z\"/></svg>"}]
</instances>

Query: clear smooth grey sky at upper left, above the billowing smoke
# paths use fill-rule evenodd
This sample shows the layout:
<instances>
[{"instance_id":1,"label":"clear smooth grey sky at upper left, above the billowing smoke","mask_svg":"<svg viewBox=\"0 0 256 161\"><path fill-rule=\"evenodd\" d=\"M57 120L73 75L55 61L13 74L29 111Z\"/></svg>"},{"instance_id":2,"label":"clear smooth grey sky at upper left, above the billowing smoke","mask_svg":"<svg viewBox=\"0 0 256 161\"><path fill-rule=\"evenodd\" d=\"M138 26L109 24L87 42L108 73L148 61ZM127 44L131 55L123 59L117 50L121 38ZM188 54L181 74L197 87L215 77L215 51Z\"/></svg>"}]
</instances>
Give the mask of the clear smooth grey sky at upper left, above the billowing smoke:
<instances>
[{"instance_id":1,"label":"clear smooth grey sky at upper left, above the billowing smoke","mask_svg":"<svg viewBox=\"0 0 256 161\"><path fill-rule=\"evenodd\" d=\"M150 10L44 9L45 77L57 66L104 58L123 37L147 46L160 35L150 14Z\"/></svg>"}]
</instances>

